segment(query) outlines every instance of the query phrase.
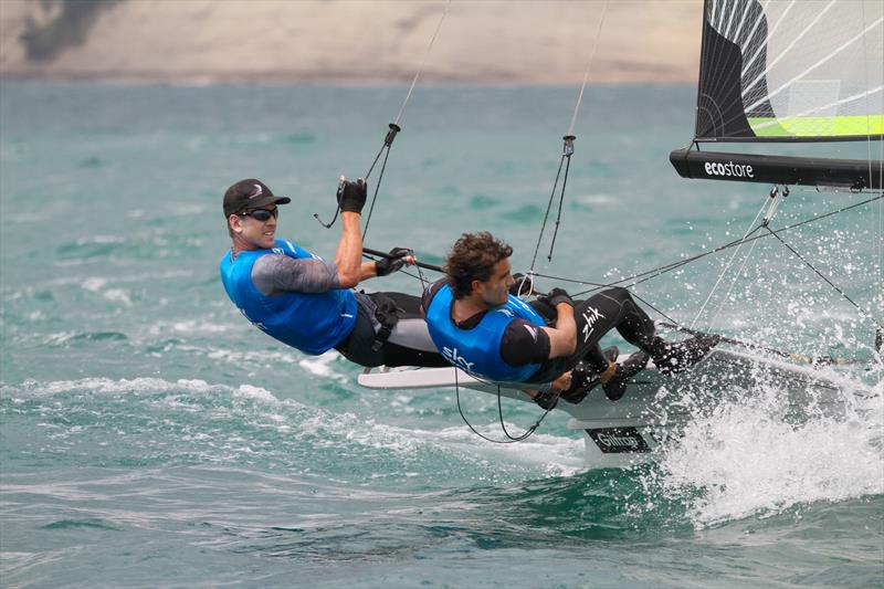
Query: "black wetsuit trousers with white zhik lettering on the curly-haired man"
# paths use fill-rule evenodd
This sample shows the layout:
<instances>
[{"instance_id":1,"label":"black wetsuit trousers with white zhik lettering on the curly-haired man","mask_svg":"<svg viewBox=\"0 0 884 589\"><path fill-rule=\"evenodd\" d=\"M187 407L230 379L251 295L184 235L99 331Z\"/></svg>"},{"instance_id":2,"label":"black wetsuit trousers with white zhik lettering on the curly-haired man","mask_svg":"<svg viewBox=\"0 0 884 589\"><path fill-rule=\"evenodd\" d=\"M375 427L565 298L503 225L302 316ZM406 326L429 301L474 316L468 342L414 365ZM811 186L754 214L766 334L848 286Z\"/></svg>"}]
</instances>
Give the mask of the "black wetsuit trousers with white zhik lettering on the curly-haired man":
<instances>
[{"instance_id":1,"label":"black wetsuit trousers with white zhik lettering on the curly-haired man","mask_svg":"<svg viewBox=\"0 0 884 589\"><path fill-rule=\"evenodd\" d=\"M617 329L623 339L642 350L652 355L656 351L659 338L654 335L654 322L625 288L609 288L573 303L577 349L570 356L545 361L529 382L555 380L573 369L580 360L585 360L593 370L603 372L608 368L608 360L601 354L599 340L611 329ZM557 314L549 305L538 301L532 306L547 323L555 323Z\"/></svg>"}]
</instances>

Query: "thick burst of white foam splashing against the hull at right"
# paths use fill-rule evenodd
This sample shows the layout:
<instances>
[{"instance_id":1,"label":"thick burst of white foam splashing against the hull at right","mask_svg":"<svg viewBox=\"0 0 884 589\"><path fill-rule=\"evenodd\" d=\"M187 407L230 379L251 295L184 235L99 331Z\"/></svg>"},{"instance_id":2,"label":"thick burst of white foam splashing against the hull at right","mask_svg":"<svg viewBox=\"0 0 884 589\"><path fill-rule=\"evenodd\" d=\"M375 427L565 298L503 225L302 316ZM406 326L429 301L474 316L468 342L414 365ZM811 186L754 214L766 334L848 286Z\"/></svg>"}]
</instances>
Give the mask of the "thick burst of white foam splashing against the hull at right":
<instances>
[{"instance_id":1,"label":"thick burst of white foam splashing against the hull at right","mask_svg":"<svg viewBox=\"0 0 884 589\"><path fill-rule=\"evenodd\" d=\"M660 483L691 499L697 527L799 504L884 493L881 395L844 417L785 419L776 391L697 417L665 453Z\"/></svg>"}]
</instances>

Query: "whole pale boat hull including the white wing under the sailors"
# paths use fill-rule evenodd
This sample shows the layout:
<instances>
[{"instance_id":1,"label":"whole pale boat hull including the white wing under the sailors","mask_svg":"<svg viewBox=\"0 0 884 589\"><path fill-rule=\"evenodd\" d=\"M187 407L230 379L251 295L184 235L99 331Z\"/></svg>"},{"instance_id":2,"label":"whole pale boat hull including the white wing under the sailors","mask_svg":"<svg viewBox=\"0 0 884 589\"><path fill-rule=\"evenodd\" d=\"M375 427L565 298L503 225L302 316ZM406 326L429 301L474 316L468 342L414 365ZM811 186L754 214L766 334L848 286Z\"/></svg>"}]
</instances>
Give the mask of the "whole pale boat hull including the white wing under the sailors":
<instances>
[{"instance_id":1,"label":"whole pale boat hull including the white wing under the sailors","mask_svg":"<svg viewBox=\"0 0 884 589\"><path fill-rule=\"evenodd\" d=\"M622 358L621 358L622 359ZM476 380L454 368L370 371L359 385L371 389L420 390L460 387L497 395L498 386ZM533 402L528 395L501 386L501 395ZM568 427L582 430L590 469L623 467L642 462L694 417L723 402L764 388L776 390L786 417L800 422L812 414L839 416L853 395L872 395L855 380L839 379L809 366L716 348L702 362L680 375L663 376L649 365L630 382L625 396L609 400L601 388L583 401L559 401L556 410L571 416Z\"/></svg>"}]
</instances>

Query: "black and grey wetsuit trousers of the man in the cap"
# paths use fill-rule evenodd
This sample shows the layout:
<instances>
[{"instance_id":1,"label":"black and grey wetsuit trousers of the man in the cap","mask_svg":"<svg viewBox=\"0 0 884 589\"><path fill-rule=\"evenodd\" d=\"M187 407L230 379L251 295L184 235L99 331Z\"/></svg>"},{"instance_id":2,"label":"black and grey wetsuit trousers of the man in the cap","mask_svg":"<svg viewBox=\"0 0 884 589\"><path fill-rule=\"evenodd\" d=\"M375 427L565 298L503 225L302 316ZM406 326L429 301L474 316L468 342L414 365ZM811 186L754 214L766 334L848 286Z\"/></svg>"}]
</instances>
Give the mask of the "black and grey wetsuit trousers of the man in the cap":
<instances>
[{"instance_id":1,"label":"black and grey wetsuit trousers of the man in the cap","mask_svg":"<svg viewBox=\"0 0 884 589\"><path fill-rule=\"evenodd\" d=\"M358 305L356 325L340 344L335 346L345 358L360 366L451 366L435 349L421 314L420 297L403 293L368 295L377 308L385 307L396 315L396 327L387 341L378 339L377 308ZM375 315L375 316L372 316Z\"/></svg>"}]
</instances>

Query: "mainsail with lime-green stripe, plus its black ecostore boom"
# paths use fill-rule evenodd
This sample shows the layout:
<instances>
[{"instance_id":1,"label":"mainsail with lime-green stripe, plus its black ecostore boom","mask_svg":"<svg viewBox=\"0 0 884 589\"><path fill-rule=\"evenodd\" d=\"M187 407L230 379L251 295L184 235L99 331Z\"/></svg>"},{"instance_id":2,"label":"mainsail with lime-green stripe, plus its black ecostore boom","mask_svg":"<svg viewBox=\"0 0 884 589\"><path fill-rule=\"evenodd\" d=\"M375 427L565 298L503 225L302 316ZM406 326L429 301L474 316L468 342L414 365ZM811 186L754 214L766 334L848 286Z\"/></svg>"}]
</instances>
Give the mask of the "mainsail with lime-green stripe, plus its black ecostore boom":
<instances>
[{"instance_id":1,"label":"mainsail with lime-green stripe, plus its black ecostore boom","mask_svg":"<svg viewBox=\"0 0 884 589\"><path fill-rule=\"evenodd\" d=\"M881 0L706 0L697 150L675 150L670 159L687 178L880 188L880 161L747 157L698 146L880 140L883 61Z\"/></svg>"}]
</instances>

